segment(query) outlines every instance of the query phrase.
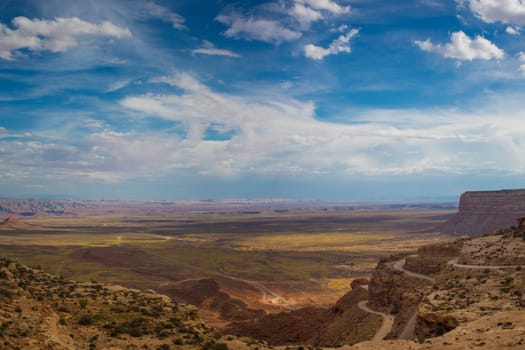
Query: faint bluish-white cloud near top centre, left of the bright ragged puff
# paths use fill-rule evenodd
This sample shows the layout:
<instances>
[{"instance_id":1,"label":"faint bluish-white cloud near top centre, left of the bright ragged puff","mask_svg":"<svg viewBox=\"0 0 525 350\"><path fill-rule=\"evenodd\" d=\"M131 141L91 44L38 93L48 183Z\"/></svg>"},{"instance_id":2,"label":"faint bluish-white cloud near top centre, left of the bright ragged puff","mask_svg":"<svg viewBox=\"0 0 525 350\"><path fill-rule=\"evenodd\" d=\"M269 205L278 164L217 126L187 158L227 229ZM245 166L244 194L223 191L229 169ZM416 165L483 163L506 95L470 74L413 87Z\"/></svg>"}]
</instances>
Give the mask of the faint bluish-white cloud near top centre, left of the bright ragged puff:
<instances>
[{"instance_id":1,"label":"faint bluish-white cloud near top centre, left of the bright ragged puff","mask_svg":"<svg viewBox=\"0 0 525 350\"><path fill-rule=\"evenodd\" d=\"M269 43L281 43L299 39L301 33L284 27L270 19L242 17L236 14L220 15L216 20L230 26L224 35L229 38L259 40Z\"/></svg>"}]
</instances>

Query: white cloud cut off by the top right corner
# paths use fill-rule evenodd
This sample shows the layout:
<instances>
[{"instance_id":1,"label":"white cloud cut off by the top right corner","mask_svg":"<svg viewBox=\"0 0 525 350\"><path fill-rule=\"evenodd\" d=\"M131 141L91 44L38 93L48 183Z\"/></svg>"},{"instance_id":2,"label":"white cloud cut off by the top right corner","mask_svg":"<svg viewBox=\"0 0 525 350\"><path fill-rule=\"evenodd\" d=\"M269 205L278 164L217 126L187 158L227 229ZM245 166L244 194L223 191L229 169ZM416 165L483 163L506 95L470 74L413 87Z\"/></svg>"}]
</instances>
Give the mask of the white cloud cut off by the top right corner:
<instances>
[{"instance_id":1,"label":"white cloud cut off by the top right corner","mask_svg":"<svg viewBox=\"0 0 525 350\"><path fill-rule=\"evenodd\" d=\"M523 0L467 0L474 14L487 23L525 24Z\"/></svg>"}]
</instances>

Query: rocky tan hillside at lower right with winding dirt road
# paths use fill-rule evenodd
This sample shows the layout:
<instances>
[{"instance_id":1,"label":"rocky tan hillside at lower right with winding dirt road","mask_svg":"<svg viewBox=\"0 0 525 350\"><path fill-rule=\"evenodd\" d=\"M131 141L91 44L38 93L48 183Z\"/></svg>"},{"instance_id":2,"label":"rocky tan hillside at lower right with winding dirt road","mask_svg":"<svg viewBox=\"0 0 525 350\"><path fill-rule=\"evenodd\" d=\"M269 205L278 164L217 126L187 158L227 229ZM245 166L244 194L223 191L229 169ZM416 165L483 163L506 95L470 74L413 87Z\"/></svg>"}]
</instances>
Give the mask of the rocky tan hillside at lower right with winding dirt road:
<instances>
[{"instance_id":1,"label":"rocky tan hillside at lower right with winding dirt road","mask_svg":"<svg viewBox=\"0 0 525 350\"><path fill-rule=\"evenodd\" d=\"M351 349L525 348L523 237L520 229L500 230L382 261L369 286L370 298L396 314L389 335L395 340Z\"/></svg>"}]
</instances>

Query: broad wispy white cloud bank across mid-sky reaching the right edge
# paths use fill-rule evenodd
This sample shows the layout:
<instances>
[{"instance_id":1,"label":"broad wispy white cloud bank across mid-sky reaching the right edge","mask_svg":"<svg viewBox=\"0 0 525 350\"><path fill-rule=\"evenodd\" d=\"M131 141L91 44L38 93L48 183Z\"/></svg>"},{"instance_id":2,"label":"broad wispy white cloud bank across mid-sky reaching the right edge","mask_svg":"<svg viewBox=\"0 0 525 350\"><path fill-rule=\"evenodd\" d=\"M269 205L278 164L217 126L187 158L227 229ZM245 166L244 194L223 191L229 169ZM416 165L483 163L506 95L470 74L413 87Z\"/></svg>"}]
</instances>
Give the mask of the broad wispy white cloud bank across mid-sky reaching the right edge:
<instances>
[{"instance_id":1,"label":"broad wispy white cloud bank across mid-sky reaching the right edge","mask_svg":"<svg viewBox=\"0 0 525 350\"><path fill-rule=\"evenodd\" d=\"M521 105L513 112L497 105L470 113L372 110L354 115L358 123L339 124L317 119L311 102L221 94L184 73L159 80L184 92L132 96L121 103L145 116L185 125L187 136L170 146L170 154L176 154L171 162L201 174L525 172ZM207 140L210 126L233 136Z\"/></svg>"}]
</instances>

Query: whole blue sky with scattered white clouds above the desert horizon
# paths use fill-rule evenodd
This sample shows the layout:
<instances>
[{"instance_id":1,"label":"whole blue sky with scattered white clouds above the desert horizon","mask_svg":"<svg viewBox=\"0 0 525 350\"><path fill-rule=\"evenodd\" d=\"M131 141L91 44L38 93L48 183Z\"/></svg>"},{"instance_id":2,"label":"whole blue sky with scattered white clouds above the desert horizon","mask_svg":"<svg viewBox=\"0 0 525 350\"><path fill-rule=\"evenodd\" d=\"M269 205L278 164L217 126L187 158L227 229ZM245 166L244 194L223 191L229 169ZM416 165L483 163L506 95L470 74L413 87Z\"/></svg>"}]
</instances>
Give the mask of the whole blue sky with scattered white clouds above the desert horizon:
<instances>
[{"instance_id":1,"label":"whole blue sky with scattered white clouds above the desert horizon","mask_svg":"<svg viewBox=\"0 0 525 350\"><path fill-rule=\"evenodd\" d=\"M0 197L525 187L525 1L2 0Z\"/></svg>"}]
</instances>

